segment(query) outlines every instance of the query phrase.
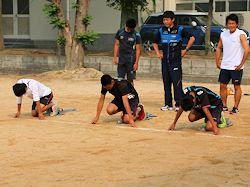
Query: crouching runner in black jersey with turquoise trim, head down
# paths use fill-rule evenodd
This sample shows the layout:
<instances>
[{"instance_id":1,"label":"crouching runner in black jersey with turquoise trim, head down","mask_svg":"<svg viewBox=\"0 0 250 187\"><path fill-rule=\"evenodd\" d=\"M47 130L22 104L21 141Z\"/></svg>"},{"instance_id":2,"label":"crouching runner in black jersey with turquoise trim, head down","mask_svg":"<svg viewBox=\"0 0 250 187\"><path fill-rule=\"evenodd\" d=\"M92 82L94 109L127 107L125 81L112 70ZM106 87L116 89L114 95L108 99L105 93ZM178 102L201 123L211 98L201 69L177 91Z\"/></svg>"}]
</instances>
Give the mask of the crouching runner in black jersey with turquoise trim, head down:
<instances>
[{"instance_id":1,"label":"crouching runner in black jersey with turquoise trim, head down","mask_svg":"<svg viewBox=\"0 0 250 187\"><path fill-rule=\"evenodd\" d=\"M222 100L219 95L201 86L191 86L184 89L185 96L180 102L180 110L177 112L173 124L169 130L174 130L176 123L183 111L190 111L190 122L205 118L206 130L220 134L217 127L221 123Z\"/></svg>"}]
</instances>

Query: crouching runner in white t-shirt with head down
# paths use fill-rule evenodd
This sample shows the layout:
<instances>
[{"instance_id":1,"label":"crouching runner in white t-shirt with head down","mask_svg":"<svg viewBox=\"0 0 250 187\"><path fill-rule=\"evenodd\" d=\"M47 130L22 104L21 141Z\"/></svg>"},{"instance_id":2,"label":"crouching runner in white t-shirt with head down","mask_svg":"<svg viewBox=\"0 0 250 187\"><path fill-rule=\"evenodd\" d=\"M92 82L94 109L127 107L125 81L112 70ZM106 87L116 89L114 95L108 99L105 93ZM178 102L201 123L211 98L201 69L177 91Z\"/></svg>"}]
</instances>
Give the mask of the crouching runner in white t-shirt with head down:
<instances>
[{"instance_id":1,"label":"crouching runner in white t-shirt with head down","mask_svg":"<svg viewBox=\"0 0 250 187\"><path fill-rule=\"evenodd\" d=\"M51 114L55 114L56 106L52 102L53 93L51 89L42 83L33 79L20 79L13 86L13 92L17 97L17 113L15 115L18 118L21 114L21 105L23 95L33 100L31 114L33 117L44 119L44 112L49 111Z\"/></svg>"}]
</instances>

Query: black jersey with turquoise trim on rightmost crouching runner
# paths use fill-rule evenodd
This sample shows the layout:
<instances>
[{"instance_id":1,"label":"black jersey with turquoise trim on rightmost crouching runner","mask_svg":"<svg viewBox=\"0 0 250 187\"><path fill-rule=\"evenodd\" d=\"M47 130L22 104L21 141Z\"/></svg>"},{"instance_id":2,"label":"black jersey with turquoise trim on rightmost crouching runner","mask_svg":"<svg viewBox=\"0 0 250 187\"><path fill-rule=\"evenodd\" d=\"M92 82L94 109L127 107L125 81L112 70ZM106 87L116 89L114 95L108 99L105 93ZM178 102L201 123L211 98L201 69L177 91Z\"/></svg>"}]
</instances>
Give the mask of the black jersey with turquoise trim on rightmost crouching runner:
<instances>
[{"instance_id":1,"label":"black jersey with turquoise trim on rightmost crouching runner","mask_svg":"<svg viewBox=\"0 0 250 187\"><path fill-rule=\"evenodd\" d=\"M203 86L190 86L184 89L184 94L195 93L195 109L203 107L216 108L222 105L221 97L213 91Z\"/></svg>"}]
</instances>

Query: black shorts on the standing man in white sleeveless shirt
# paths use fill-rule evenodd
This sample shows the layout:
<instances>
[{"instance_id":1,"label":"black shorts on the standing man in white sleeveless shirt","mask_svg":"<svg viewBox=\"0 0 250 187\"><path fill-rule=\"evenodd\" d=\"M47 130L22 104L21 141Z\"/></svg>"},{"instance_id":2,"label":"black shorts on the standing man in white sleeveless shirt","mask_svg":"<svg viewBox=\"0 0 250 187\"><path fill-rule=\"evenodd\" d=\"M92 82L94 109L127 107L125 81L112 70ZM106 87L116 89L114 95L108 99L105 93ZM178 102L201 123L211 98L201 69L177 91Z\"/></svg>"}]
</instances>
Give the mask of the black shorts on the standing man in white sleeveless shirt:
<instances>
[{"instance_id":1,"label":"black shorts on the standing man in white sleeveless shirt","mask_svg":"<svg viewBox=\"0 0 250 187\"><path fill-rule=\"evenodd\" d=\"M243 69L240 71L221 69L218 81L222 84L228 84L232 79L232 83L234 85L240 85L242 80L242 75L243 75Z\"/></svg>"}]
</instances>

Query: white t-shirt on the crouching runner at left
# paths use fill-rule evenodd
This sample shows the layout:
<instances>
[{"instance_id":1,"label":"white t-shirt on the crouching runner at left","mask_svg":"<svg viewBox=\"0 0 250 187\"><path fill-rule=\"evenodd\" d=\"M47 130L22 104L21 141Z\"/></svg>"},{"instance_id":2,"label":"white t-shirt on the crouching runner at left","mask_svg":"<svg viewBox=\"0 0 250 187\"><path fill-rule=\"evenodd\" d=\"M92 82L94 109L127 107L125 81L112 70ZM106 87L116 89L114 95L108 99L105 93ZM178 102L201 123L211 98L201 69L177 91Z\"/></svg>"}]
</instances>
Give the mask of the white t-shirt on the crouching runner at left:
<instances>
[{"instance_id":1,"label":"white t-shirt on the crouching runner at left","mask_svg":"<svg viewBox=\"0 0 250 187\"><path fill-rule=\"evenodd\" d=\"M27 91L24 94L30 99L33 99L34 102L40 101L40 98L51 94L51 89L42 83L33 80L33 79L20 79L17 83L24 83L27 86ZM22 103L22 96L17 97L17 104Z\"/></svg>"}]
</instances>

